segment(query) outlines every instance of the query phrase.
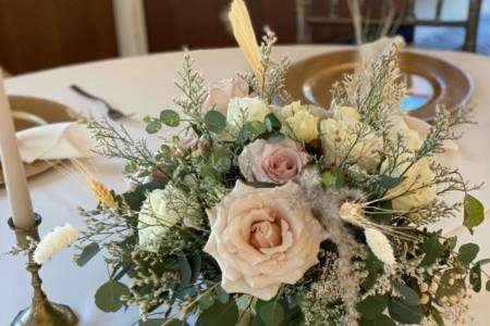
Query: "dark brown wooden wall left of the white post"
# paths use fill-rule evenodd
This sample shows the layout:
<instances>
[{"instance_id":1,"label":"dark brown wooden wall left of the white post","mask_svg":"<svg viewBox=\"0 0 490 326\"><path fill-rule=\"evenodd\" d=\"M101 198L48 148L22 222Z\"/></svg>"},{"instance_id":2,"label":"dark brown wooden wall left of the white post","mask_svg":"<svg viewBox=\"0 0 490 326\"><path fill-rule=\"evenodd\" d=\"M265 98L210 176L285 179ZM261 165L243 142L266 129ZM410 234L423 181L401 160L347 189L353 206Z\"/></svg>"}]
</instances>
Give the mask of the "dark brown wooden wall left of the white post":
<instances>
[{"instance_id":1,"label":"dark brown wooden wall left of the white post","mask_svg":"<svg viewBox=\"0 0 490 326\"><path fill-rule=\"evenodd\" d=\"M111 0L0 0L0 65L13 74L117 55Z\"/></svg>"}]
</instances>

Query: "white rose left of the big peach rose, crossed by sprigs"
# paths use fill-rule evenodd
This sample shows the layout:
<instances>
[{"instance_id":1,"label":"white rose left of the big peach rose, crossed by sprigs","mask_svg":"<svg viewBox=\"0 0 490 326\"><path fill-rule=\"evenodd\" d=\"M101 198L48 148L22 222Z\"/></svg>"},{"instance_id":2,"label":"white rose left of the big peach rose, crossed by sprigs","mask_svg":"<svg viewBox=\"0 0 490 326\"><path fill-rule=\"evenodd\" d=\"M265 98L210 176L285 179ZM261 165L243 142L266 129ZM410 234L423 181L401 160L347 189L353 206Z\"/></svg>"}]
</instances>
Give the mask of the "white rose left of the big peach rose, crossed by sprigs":
<instances>
[{"instance_id":1,"label":"white rose left of the big peach rose, crossed by sprigs","mask_svg":"<svg viewBox=\"0 0 490 326\"><path fill-rule=\"evenodd\" d=\"M164 189L151 191L138 215L139 246L157 252L159 241L169 227L182 222L186 227L199 227L203 212L196 198L168 185Z\"/></svg>"}]
</instances>

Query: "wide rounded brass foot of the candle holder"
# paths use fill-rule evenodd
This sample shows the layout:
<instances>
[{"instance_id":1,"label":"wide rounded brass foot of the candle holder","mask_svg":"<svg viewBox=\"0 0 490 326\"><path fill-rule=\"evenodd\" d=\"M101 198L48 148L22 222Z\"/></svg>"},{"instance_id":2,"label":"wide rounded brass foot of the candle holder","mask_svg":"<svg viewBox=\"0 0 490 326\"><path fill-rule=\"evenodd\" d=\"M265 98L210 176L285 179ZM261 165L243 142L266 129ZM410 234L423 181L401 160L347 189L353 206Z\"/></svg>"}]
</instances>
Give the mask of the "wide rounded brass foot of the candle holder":
<instances>
[{"instance_id":1,"label":"wide rounded brass foot of the candle holder","mask_svg":"<svg viewBox=\"0 0 490 326\"><path fill-rule=\"evenodd\" d=\"M21 311L10 326L75 326L78 317L65 304L46 302Z\"/></svg>"}]
</instances>

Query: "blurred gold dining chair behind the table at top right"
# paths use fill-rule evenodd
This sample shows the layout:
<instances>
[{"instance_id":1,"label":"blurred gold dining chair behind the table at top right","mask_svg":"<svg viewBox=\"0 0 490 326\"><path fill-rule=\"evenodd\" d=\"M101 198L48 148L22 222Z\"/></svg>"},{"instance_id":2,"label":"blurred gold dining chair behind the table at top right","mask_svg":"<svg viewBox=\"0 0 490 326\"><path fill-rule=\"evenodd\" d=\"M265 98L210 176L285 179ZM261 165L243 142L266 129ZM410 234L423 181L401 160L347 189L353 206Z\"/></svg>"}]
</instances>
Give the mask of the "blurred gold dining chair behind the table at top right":
<instances>
[{"instance_id":1,"label":"blurred gold dining chair behind the table at top right","mask_svg":"<svg viewBox=\"0 0 490 326\"><path fill-rule=\"evenodd\" d=\"M399 27L414 26L444 26L463 27L466 29L463 49L469 52L476 51L479 13L481 0L468 0L468 15L464 20L445 20L441 16L442 8L446 0L434 0L436 14L433 18L418 18L415 13L416 0L295 0L297 16L297 40L301 43L311 42L313 27L321 25L354 26L355 39L363 41L360 29L377 27L378 30L388 32L387 23L392 30ZM317 10L321 3L321 11ZM401 5L402 4L402 5ZM346 11L345 8L348 10ZM343 10L342 10L343 9ZM381 12L377 17L370 17L369 13ZM360 22L362 13L367 13ZM363 24L363 26L360 25Z\"/></svg>"}]
</instances>

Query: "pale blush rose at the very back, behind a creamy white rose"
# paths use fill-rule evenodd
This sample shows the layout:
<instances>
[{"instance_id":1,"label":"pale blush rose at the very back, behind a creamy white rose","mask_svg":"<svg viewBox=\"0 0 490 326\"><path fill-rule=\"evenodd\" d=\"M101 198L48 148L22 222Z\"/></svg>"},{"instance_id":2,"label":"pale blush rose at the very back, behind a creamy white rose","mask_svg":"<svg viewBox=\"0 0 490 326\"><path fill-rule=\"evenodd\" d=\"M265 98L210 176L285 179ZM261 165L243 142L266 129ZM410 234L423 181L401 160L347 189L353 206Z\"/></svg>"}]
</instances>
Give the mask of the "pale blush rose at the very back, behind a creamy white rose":
<instances>
[{"instance_id":1,"label":"pale blush rose at the very back, behind a creamy white rose","mask_svg":"<svg viewBox=\"0 0 490 326\"><path fill-rule=\"evenodd\" d=\"M248 85L240 77L223 79L209 87L209 93L204 103L205 110L217 110L226 115L228 103L232 98L243 98L248 95Z\"/></svg>"}]
</instances>

